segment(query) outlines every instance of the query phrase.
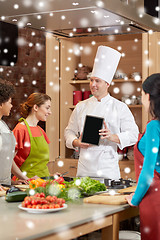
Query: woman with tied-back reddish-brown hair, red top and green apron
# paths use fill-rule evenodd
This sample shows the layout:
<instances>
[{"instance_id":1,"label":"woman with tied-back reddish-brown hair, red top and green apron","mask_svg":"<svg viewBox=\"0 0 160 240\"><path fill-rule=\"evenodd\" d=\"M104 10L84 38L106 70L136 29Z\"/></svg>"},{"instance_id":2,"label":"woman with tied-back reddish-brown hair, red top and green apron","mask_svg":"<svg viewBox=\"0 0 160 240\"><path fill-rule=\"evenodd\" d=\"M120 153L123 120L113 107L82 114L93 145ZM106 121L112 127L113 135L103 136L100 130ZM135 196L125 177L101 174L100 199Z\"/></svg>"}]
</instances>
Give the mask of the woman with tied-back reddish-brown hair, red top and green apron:
<instances>
[{"instance_id":1,"label":"woman with tied-back reddish-brown hair, red top and green apron","mask_svg":"<svg viewBox=\"0 0 160 240\"><path fill-rule=\"evenodd\" d=\"M47 94L32 93L21 104L21 118L13 130L16 138L15 163L27 177L47 177L49 170L49 139L38 126L51 114L51 98Z\"/></svg>"}]
</instances>

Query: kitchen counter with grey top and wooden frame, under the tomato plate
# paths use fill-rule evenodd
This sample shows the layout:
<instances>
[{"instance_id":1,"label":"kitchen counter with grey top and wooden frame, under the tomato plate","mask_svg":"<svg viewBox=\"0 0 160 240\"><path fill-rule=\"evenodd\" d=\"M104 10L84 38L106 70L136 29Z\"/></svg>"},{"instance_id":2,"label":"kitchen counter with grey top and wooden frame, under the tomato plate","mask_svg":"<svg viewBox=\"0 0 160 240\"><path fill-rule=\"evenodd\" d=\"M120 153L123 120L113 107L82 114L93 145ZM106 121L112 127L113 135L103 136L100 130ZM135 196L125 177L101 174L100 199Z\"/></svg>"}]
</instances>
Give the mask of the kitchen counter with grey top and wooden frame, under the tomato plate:
<instances>
[{"instance_id":1,"label":"kitchen counter with grey top and wooden frame, under the tomato plate","mask_svg":"<svg viewBox=\"0 0 160 240\"><path fill-rule=\"evenodd\" d=\"M138 215L125 205L87 204L79 200L62 211L33 214L0 198L0 240L67 240L102 229L102 239L117 240L119 221Z\"/></svg>"}]
</instances>

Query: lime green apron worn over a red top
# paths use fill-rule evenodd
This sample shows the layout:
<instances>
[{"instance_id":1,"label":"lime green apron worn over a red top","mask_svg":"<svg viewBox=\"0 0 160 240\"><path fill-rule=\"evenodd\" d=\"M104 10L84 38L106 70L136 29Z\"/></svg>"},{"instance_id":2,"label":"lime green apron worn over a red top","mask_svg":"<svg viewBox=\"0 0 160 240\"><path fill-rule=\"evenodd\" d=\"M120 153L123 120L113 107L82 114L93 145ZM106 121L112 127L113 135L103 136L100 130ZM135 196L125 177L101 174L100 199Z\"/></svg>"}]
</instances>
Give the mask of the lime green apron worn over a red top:
<instances>
[{"instance_id":1,"label":"lime green apron worn over a red top","mask_svg":"<svg viewBox=\"0 0 160 240\"><path fill-rule=\"evenodd\" d=\"M49 170L47 167L47 163L49 162L49 146L43 133L40 130L41 136L33 137L27 121L24 118L21 118L19 121L24 121L29 133L31 144L29 156L20 167L21 171L26 172L26 175L29 178L35 175L38 177L49 176Z\"/></svg>"}]
</instances>

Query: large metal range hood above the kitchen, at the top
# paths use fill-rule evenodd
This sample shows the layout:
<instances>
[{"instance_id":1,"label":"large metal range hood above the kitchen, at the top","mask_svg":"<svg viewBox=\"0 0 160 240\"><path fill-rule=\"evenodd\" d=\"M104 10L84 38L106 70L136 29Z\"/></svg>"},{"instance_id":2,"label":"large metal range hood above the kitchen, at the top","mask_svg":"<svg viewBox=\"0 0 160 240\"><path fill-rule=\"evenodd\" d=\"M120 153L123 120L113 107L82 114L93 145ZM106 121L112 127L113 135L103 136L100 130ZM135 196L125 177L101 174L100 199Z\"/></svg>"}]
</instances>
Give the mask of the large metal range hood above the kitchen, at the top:
<instances>
[{"instance_id":1,"label":"large metal range hood above the kitchen, at the top","mask_svg":"<svg viewBox=\"0 0 160 240\"><path fill-rule=\"evenodd\" d=\"M144 0L0 0L1 21L65 37L160 31Z\"/></svg>"}]
</instances>

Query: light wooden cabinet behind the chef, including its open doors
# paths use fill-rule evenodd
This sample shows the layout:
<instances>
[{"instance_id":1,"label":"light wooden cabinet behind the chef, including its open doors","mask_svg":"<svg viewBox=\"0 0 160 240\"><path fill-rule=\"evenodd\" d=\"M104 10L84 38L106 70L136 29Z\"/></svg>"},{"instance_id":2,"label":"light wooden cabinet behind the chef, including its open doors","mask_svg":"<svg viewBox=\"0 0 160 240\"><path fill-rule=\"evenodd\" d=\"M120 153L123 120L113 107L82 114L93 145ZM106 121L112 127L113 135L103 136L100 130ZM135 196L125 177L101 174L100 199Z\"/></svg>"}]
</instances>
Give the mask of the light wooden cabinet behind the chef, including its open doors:
<instances>
[{"instance_id":1,"label":"light wooden cabinet behind the chef, including its open doors","mask_svg":"<svg viewBox=\"0 0 160 240\"><path fill-rule=\"evenodd\" d=\"M122 53L118 71L125 73L128 79L114 79L109 91L113 97L120 100L124 95L139 97L141 95L142 81L153 71L160 71L158 64L156 64L157 68L153 69L153 65L155 66L153 63L160 58L160 45L156 44L156 47L154 46L155 42L159 42L159 33L153 33L153 35L143 33L81 38L63 38L50 35L52 37L46 39L46 53L48 54L48 64L46 65L48 76L46 79L47 92L50 93L54 100L53 104L57 106L56 109L53 109L50 121L47 122L47 134L51 140L50 149L52 152L50 161L61 158L65 162L65 159L71 159L73 154L73 150L65 147L64 141L64 129L74 109L73 91L89 90L89 80L73 80L75 69L79 64L92 67L99 45L118 49ZM51 38L52 43L50 43ZM156 57L154 52L156 52ZM152 57L152 66L148 64L150 56ZM134 72L141 74L140 81L133 79L132 73ZM57 83L55 83L56 81ZM57 86L57 88L55 87L52 90L52 85ZM149 116L141 104L132 104L129 105L129 108L135 116L140 132L142 132ZM132 161L127 162L128 164L131 162L133 165Z\"/></svg>"}]
</instances>

